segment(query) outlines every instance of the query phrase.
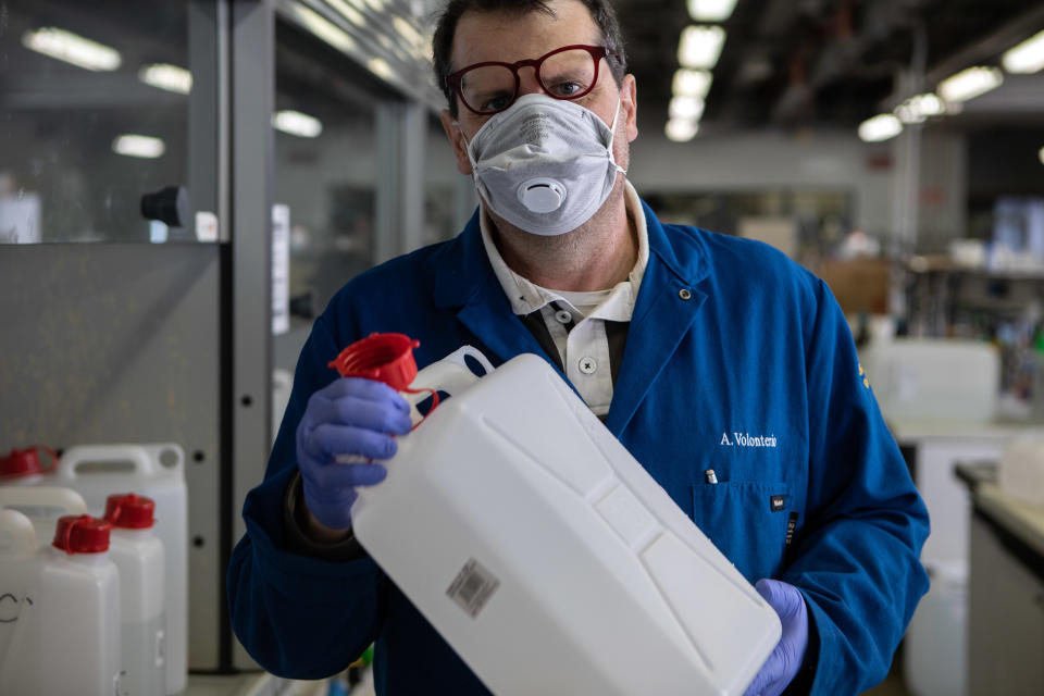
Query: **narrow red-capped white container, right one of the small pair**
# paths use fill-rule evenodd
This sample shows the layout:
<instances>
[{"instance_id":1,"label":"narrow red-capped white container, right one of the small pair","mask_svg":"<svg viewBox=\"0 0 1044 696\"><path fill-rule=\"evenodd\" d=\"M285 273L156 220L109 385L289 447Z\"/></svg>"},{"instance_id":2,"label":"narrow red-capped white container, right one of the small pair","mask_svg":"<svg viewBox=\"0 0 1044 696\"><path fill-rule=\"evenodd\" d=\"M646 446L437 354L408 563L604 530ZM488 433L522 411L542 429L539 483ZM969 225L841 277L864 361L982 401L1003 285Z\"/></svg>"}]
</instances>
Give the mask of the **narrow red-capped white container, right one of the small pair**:
<instances>
[{"instance_id":1,"label":"narrow red-capped white container, right one of the small pair","mask_svg":"<svg viewBox=\"0 0 1044 696\"><path fill-rule=\"evenodd\" d=\"M109 496L109 556L120 571L120 635L127 696L166 693L163 543L152 531L156 505L133 493Z\"/></svg>"}]
</instances>

